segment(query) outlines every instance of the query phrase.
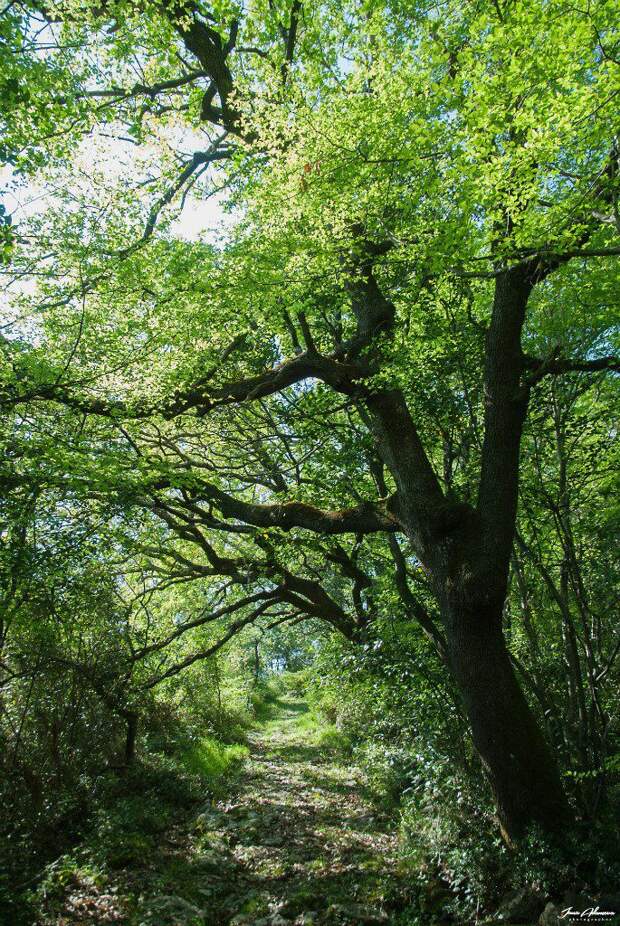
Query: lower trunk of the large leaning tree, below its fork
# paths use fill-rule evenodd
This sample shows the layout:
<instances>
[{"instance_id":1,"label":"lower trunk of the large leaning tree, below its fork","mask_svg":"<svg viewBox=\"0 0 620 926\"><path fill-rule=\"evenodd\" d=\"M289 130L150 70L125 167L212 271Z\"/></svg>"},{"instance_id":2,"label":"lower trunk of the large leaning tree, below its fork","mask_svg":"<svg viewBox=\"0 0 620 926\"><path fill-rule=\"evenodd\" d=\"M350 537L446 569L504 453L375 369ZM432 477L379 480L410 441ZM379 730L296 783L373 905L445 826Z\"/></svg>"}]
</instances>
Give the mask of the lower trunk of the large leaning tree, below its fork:
<instances>
[{"instance_id":1,"label":"lower trunk of the large leaning tree, below its fork","mask_svg":"<svg viewBox=\"0 0 620 926\"><path fill-rule=\"evenodd\" d=\"M444 620L450 669L504 838L513 842L533 823L547 832L565 826L560 775L510 662L501 605L453 601Z\"/></svg>"}]
</instances>

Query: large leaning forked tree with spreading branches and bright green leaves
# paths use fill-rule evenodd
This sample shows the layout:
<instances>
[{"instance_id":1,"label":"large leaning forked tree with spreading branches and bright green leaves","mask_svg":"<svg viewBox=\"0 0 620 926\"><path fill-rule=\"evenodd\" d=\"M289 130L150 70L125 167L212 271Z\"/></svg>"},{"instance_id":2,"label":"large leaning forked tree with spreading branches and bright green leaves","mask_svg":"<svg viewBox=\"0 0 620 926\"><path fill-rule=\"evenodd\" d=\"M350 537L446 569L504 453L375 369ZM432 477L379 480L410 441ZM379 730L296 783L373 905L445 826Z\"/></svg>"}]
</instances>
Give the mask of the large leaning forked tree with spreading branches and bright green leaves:
<instances>
[{"instance_id":1,"label":"large leaning forked tree with spreading branches and bright green leaves","mask_svg":"<svg viewBox=\"0 0 620 926\"><path fill-rule=\"evenodd\" d=\"M620 369L617 14L5 14L7 156L54 191L13 233L15 277L40 283L2 386L8 408L57 409L43 481L152 512L196 556L151 555L244 583L239 608L351 637L381 568L360 550L385 537L509 838L567 813L502 625L531 395ZM175 240L171 207L221 190L234 228ZM545 313L555 341L533 335Z\"/></svg>"}]
</instances>

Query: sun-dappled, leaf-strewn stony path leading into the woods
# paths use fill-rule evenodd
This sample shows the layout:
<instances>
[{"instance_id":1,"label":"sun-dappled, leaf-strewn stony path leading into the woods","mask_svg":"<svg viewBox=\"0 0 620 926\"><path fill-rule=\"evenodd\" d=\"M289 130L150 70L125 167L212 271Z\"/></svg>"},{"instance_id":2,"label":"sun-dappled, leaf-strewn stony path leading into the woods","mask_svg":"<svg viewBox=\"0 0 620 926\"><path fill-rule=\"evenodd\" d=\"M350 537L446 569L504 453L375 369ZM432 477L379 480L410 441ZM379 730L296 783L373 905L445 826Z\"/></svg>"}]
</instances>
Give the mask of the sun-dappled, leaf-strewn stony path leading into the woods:
<instances>
[{"instance_id":1,"label":"sun-dappled, leaf-strewn stony path leading into the woods","mask_svg":"<svg viewBox=\"0 0 620 926\"><path fill-rule=\"evenodd\" d=\"M202 813L179 845L202 875L192 926L393 922L395 836L364 798L360 771L307 744L306 710L279 702L253 734L234 798ZM160 926L158 915L145 922Z\"/></svg>"}]
</instances>

